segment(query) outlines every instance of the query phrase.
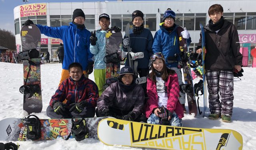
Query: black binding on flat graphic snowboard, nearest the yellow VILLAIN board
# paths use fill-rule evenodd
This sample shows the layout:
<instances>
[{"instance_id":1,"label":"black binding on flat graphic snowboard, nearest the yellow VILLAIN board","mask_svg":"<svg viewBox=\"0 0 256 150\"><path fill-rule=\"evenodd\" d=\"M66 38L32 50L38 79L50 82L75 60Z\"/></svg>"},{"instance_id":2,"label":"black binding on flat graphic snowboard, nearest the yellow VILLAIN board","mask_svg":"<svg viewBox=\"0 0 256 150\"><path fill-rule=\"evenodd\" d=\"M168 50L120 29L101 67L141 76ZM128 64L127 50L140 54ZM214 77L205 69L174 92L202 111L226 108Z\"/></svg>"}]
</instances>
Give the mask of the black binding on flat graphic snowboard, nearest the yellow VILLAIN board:
<instances>
[{"instance_id":1,"label":"black binding on flat graphic snowboard, nearest the yellow VILLAIN board","mask_svg":"<svg viewBox=\"0 0 256 150\"><path fill-rule=\"evenodd\" d=\"M86 121L79 115L72 117L72 128L71 132L75 137L76 141L84 140L89 137L89 130L86 126Z\"/></svg>"}]
</instances>

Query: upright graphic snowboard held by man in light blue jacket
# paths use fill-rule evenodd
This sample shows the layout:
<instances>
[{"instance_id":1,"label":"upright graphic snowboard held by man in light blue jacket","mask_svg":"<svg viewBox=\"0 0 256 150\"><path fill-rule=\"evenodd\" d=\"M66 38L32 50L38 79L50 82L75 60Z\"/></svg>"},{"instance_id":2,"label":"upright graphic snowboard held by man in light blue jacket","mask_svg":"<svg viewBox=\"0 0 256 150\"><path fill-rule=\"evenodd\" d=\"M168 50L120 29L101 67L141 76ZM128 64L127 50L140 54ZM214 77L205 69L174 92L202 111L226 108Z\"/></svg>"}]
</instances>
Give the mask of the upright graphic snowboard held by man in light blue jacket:
<instances>
[{"instance_id":1,"label":"upright graphic snowboard held by man in light blue jacket","mask_svg":"<svg viewBox=\"0 0 256 150\"><path fill-rule=\"evenodd\" d=\"M117 54L120 57L122 49L122 33L114 32L114 28L108 29L106 33L106 55ZM113 58L120 59L121 58ZM105 60L104 60L105 61ZM105 61L106 62L106 61ZM106 63L106 85L110 85L117 81L117 77L120 74L120 61L112 63ZM106 87L104 87L106 89Z\"/></svg>"}]
</instances>

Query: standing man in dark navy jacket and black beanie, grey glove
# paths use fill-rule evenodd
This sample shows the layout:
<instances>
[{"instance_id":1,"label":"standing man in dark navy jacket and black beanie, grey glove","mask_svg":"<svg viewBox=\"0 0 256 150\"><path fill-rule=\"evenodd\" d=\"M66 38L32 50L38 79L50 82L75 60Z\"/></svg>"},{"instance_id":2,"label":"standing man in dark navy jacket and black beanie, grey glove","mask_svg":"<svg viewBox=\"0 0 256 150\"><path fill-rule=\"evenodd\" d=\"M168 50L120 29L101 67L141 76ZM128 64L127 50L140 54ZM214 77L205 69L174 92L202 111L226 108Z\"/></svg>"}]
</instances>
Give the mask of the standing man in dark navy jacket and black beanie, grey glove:
<instances>
[{"instance_id":1,"label":"standing man in dark navy jacket and black beanie, grey glove","mask_svg":"<svg viewBox=\"0 0 256 150\"><path fill-rule=\"evenodd\" d=\"M123 50L124 52L128 52L127 46L130 45L132 48L132 52L143 52L144 58L136 59L138 61L138 67L132 68L138 70L140 77L148 76L149 73L149 60L152 53L152 42L153 36L150 30L144 28L144 14L140 10L135 10L132 13L132 30L130 30L130 40L128 37L124 36L123 40ZM126 56L127 60L125 62L125 66L129 66L129 57ZM135 66L134 66L135 67ZM142 84L144 89L144 94L146 96L147 93L147 83ZM147 96L146 96L147 97Z\"/></svg>"}]
</instances>

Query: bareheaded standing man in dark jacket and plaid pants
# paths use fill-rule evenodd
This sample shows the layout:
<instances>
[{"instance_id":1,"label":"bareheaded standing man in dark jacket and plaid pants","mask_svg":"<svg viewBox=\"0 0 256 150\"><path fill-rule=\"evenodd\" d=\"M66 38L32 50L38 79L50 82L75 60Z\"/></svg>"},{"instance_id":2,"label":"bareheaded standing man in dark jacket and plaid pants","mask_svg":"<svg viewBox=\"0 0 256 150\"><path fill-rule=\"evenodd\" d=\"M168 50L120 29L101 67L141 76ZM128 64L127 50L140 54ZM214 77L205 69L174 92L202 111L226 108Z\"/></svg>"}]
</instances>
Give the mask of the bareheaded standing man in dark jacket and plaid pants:
<instances>
[{"instance_id":1,"label":"bareheaded standing man in dark jacket and plaid pants","mask_svg":"<svg viewBox=\"0 0 256 150\"><path fill-rule=\"evenodd\" d=\"M234 24L224 20L221 5L210 6L208 14L209 24L204 27L205 69L211 112L208 118L218 119L221 115L222 121L230 122L234 100L233 69L240 71L242 65L238 32ZM201 41L200 38L197 53L202 52Z\"/></svg>"}]
</instances>

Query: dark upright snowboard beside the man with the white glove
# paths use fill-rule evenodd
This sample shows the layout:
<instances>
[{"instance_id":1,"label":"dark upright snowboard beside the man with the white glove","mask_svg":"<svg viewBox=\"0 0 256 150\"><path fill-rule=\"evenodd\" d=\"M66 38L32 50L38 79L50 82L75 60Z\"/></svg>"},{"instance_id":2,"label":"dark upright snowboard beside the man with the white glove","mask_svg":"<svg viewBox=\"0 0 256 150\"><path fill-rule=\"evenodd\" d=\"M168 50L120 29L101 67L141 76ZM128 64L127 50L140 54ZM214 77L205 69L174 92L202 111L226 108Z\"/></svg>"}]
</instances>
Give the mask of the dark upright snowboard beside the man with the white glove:
<instances>
[{"instance_id":1,"label":"dark upright snowboard beside the man with the white glove","mask_svg":"<svg viewBox=\"0 0 256 150\"><path fill-rule=\"evenodd\" d=\"M182 69L183 69L183 76L184 76L184 84L189 85L186 87L190 87L189 89L186 89L186 95L188 100L188 112L189 114L194 113L195 117L197 115L197 106L196 106L196 98L194 94L194 88L193 88L193 78L191 75L191 69L190 65L188 65L188 62L190 61L189 56L189 50L187 45L187 40L182 37L181 32L184 31L184 29L181 26L177 27L178 32L178 39L179 39L179 47L180 47L180 57L183 58L181 60L182 63Z\"/></svg>"}]
</instances>

